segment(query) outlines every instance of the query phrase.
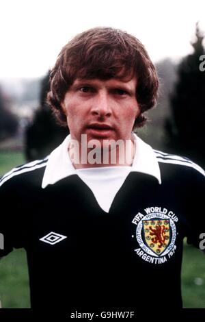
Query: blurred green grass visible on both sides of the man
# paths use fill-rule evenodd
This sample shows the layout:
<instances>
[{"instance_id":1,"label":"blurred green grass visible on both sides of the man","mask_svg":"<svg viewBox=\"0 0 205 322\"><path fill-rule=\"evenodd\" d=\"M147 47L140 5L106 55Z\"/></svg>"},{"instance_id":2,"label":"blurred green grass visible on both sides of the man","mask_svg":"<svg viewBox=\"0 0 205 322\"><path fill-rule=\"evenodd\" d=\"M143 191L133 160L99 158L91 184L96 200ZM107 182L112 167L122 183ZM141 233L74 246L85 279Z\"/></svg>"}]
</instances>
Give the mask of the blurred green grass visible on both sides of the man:
<instances>
[{"instance_id":1,"label":"blurred green grass visible on both sides of the man","mask_svg":"<svg viewBox=\"0 0 205 322\"><path fill-rule=\"evenodd\" d=\"M21 152L0 152L0 176L25 162ZM182 264L184 308L205 308L204 254L184 243ZM27 258L23 249L14 250L0 262L0 298L3 308L29 308Z\"/></svg>"}]
</instances>

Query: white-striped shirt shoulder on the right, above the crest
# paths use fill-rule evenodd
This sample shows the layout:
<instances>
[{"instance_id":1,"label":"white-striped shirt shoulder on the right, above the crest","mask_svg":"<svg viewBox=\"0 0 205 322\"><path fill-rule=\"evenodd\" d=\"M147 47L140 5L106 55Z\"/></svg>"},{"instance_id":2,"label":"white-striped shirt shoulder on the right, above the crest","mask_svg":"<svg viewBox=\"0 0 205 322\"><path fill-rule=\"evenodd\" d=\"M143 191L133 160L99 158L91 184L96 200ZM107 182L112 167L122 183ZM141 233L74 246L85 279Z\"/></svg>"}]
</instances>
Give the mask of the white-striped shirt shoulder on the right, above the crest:
<instances>
[{"instance_id":1,"label":"white-striped shirt shoulder on the right, above the crest","mask_svg":"<svg viewBox=\"0 0 205 322\"><path fill-rule=\"evenodd\" d=\"M204 169L202 169L199 164L185 156L178 156L176 154L166 153L156 149L153 149L153 151L156 156L156 160L163 169L169 168L173 171L196 173L198 175L205 176Z\"/></svg>"}]
</instances>

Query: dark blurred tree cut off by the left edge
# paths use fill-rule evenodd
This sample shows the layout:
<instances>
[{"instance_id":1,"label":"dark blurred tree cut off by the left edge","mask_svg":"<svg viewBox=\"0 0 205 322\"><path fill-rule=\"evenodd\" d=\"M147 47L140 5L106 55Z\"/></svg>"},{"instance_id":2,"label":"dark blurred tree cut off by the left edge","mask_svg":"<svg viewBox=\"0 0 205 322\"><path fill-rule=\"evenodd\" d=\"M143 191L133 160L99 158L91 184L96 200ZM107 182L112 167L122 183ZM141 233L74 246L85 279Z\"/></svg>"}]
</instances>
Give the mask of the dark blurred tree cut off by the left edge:
<instances>
[{"instance_id":1,"label":"dark blurred tree cut off by the left edge","mask_svg":"<svg viewBox=\"0 0 205 322\"><path fill-rule=\"evenodd\" d=\"M14 136L18 129L18 119L10 111L8 100L3 96L0 88L0 140Z\"/></svg>"}]
</instances>

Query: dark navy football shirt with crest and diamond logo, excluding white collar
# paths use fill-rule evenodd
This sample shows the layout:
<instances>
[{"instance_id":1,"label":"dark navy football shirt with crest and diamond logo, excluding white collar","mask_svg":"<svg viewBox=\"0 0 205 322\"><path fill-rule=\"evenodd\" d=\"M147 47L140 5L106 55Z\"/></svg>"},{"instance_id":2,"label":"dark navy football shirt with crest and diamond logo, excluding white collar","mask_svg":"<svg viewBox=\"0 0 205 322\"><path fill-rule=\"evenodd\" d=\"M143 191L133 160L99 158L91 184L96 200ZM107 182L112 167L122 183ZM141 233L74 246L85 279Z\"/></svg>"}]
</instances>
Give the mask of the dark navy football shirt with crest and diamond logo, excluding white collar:
<instances>
[{"instance_id":1,"label":"dark navy football shirt with crest and diamond logo, excluding white collar","mask_svg":"<svg viewBox=\"0 0 205 322\"><path fill-rule=\"evenodd\" d=\"M0 255L27 251L32 308L182 307L183 239L199 247L205 232L204 175L186 158L154 153L161 184L129 173L108 213L78 175L43 189L47 159L1 179Z\"/></svg>"}]
</instances>

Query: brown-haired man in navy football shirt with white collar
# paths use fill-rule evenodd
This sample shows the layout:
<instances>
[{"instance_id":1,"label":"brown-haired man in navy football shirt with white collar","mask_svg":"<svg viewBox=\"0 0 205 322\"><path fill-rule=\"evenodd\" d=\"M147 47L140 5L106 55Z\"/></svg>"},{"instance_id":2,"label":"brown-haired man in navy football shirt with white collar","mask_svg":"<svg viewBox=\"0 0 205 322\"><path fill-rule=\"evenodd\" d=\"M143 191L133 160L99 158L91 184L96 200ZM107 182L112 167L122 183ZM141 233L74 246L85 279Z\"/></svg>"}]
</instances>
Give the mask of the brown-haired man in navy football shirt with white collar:
<instances>
[{"instance_id":1,"label":"brown-haired man in navy football shirt with white collar","mask_svg":"<svg viewBox=\"0 0 205 322\"><path fill-rule=\"evenodd\" d=\"M158 90L146 49L90 29L61 50L50 82L70 136L1 179L1 256L26 249L32 308L181 308L183 239L199 247L205 230L204 171L133 133Z\"/></svg>"}]
</instances>

